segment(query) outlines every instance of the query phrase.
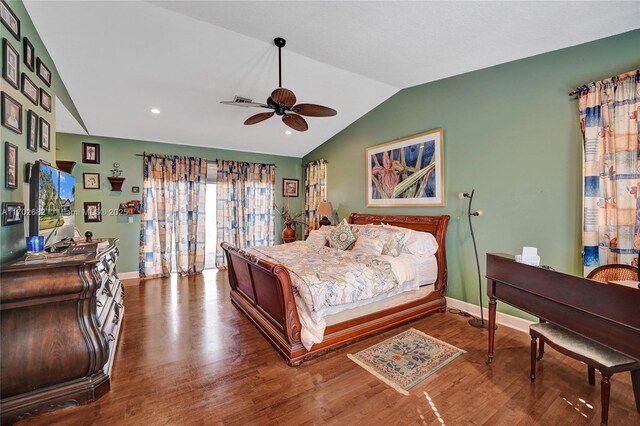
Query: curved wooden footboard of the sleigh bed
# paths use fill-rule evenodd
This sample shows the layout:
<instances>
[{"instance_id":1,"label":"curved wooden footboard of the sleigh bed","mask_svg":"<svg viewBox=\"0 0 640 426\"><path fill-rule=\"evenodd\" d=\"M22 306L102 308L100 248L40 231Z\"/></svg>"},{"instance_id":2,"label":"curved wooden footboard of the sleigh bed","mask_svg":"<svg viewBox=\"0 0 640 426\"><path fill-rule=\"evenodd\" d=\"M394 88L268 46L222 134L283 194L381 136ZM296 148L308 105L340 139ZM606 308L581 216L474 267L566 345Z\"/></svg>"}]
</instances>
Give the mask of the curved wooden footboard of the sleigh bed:
<instances>
[{"instance_id":1,"label":"curved wooden footboard of the sleigh bed","mask_svg":"<svg viewBox=\"0 0 640 426\"><path fill-rule=\"evenodd\" d=\"M300 320L289 271L258 259L227 243L231 301L249 318L291 366L306 353L300 341Z\"/></svg>"}]
</instances>

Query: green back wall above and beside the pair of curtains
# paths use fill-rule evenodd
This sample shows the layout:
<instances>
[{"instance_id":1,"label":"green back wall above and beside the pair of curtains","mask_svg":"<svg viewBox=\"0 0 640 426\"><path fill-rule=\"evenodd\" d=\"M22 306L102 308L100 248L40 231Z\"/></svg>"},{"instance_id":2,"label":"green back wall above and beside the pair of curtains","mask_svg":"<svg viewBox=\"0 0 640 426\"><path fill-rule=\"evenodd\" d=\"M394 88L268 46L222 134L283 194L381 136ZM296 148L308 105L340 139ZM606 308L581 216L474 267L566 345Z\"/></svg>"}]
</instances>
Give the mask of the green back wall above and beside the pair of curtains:
<instances>
[{"instance_id":1,"label":"green back wall above and beside the pair of curtains","mask_svg":"<svg viewBox=\"0 0 640 426\"><path fill-rule=\"evenodd\" d=\"M82 142L100 144L100 164L82 163ZM132 186L142 189L143 158L135 154L154 152L159 154L188 155L202 157L209 160L224 159L275 164L276 169L276 204L282 206L282 178L301 179L302 164L300 158L282 157L278 155L254 154L250 152L230 151L215 148L202 148L186 145L174 145L158 142L146 142L129 139L115 139L98 136L83 136L68 133L58 133L58 160L75 161L73 169L76 178L76 208L81 210L86 201L100 201L102 208L108 213L110 209L117 209L122 202L141 199L141 194L134 194ZM126 178L122 192L111 191L107 176L114 162L120 163L123 170L122 177ZM100 173L100 189L83 189L83 173ZM302 184L302 182L301 182ZM290 198L292 211L304 208L304 196ZM133 215L133 223L128 222L128 216L106 215L101 223L84 223L82 216L76 216L76 226L82 234L91 230L98 238L119 238L120 259L118 271L132 272L138 270L138 247L140 242L140 215ZM300 227L299 227L300 228ZM276 240L280 241L283 229L282 220L276 216ZM300 231L300 229L299 229Z\"/></svg>"}]
</instances>

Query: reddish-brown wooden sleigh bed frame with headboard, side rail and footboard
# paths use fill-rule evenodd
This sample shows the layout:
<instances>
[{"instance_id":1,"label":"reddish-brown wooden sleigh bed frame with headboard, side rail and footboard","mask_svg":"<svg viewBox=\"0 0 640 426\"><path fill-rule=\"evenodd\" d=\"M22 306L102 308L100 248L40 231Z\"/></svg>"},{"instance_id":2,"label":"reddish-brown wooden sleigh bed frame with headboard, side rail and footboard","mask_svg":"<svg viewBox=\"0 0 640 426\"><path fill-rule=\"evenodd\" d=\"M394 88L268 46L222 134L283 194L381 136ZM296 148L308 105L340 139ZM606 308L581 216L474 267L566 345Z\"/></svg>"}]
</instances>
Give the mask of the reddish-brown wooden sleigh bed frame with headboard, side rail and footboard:
<instances>
[{"instance_id":1,"label":"reddish-brown wooden sleigh bed frame with headboard, side rail and footboard","mask_svg":"<svg viewBox=\"0 0 640 426\"><path fill-rule=\"evenodd\" d=\"M449 216L353 213L349 217L349 223L355 225L383 222L434 235L438 242L438 251L435 254L438 274L434 283L434 291L417 300L329 325L325 329L323 341L314 344L310 350L307 350L300 340L300 319L287 268L251 256L223 242L221 246L227 257L231 301L291 366L298 366L304 360L330 349L380 333L399 324L413 321L436 311L444 311L447 291L445 237Z\"/></svg>"}]
</instances>

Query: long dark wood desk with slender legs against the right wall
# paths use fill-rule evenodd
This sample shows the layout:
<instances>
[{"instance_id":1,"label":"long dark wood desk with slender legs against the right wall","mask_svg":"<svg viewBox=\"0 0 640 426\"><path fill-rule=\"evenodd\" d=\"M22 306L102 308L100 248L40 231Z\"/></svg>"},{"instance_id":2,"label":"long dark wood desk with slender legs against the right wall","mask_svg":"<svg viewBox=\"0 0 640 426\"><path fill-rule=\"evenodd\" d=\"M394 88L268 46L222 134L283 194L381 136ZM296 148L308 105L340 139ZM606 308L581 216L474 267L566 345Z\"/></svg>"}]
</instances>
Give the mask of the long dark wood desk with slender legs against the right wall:
<instances>
[{"instance_id":1,"label":"long dark wood desk with slender legs against the right wall","mask_svg":"<svg viewBox=\"0 0 640 426\"><path fill-rule=\"evenodd\" d=\"M640 361L640 290L487 254L489 353L493 362L500 300Z\"/></svg>"}]
</instances>

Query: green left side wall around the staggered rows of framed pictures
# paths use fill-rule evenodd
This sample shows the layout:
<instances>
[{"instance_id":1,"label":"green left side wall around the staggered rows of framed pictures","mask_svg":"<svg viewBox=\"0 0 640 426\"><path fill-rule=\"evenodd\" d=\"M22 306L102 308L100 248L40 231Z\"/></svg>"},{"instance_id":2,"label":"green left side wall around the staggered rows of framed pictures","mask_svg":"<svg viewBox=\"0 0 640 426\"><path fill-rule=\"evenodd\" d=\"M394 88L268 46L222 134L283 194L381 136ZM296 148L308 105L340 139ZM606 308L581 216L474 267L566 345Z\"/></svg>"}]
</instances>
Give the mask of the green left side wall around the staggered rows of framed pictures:
<instances>
[{"instance_id":1,"label":"green left side wall around the staggered rows of framed pictures","mask_svg":"<svg viewBox=\"0 0 640 426\"><path fill-rule=\"evenodd\" d=\"M9 43L18 51L20 55L20 73L26 73L27 76L36 84L36 86L43 88L47 93L51 95L53 105L52 111L47 112L41 106L36 106L28 100L22 92L15 89L6 80L0 77L0 87L2 91L6 92L13 99L17 100L22 105L22 134L14 133L12 130L6 127L0 126L0 141L2 147L0 147L0 170L2 170L2 188L0 189L0 195L2 201L11 202L23 202L25 207L29 207L29 184L24 182L24 168L26 163L33 163L36 160L45 160L55 165L56 159L56 120L55 120L55 97L58 97L65 107L74 115L78 122L82 123L82 118L78 113L64 83L60 79L60 75L56 69L49 52L47 51L43 41L40 39L38 32L31 22L29 14L24 8L24 4L21 1L9 1L9 7L16 14L20 20L20 40L17 40L7 30L7 28L0 24L0 42L2 38L9 40ZM40 58L45 65L51 70L51 87L47 87L46 84L40 80L35 72L29 70L24 65L23 60L23 39L27 37L33 44L36 57ZM1 48L0 48L1 50ZM27 149L27 111L34 111L39 117L43 117L51 125L50 129L50 151L44 151L38 147L37 152L32 152ZM4 184L5 176L5 142L10 142L18 147L18 188L7 189ZM0 263L9 259L20 256L25 250L25 236L28 235L27 220L23 225L11 225L3 226L0 228Z\"/></svg>"}]
</instances>

